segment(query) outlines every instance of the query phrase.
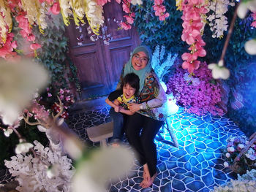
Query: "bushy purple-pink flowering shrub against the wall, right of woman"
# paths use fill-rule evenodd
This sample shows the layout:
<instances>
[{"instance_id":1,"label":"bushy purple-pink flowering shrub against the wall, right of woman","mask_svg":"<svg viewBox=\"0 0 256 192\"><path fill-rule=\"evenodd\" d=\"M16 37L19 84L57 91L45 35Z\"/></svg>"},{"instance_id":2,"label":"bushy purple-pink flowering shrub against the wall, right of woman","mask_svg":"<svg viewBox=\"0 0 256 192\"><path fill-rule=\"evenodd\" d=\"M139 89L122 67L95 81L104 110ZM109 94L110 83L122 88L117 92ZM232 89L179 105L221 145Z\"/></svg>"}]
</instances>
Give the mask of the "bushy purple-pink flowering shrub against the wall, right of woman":
<instances>
[{"instance_id":1,"label":"bushy purple-pink flowering shrub against the wall, right of woman","mask_svg":"<svg viewBox=\"0 0 256 192\"><path fill-rule=\"evenodd\" d=\"M167 83L167 93L173 93L178 104L186 107L189 112L203 115L211 112L222 115L223 111L217 107L220 101L220 85L211 77L211 70L206 63L202 63L193 76L179 67Z\"/></svg>"}]
</instances>

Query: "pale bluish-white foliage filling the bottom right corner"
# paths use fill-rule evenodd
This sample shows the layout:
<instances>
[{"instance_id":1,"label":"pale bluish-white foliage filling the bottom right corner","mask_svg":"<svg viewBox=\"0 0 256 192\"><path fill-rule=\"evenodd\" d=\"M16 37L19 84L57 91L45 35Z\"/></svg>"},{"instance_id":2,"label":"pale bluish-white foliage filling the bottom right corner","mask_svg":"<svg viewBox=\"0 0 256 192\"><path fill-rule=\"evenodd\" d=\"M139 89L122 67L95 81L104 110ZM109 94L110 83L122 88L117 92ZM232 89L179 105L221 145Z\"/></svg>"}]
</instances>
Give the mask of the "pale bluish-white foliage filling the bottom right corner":
<instances>
[{"instance_id":1,"label":"pale bluish-white foliage filling the bottom right corner","mask_svg":"<svg viewBox=\"0 0 256 192\"><path fill-rule=\"evenodd\" d=\"M256 172L252 169L242 176L238 175L238 180L230 180L225 185L214 186L211 192L233 192L233 191L249 191L256 190Z\"/></svg>"}]
</instances>

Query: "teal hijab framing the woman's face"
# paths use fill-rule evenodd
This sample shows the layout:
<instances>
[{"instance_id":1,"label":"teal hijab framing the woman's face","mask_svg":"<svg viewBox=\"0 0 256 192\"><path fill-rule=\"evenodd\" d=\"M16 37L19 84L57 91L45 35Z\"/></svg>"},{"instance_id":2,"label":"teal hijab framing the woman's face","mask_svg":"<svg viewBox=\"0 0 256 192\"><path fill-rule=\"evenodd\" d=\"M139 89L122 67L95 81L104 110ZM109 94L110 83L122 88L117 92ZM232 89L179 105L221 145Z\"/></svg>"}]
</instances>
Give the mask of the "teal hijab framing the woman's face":
<instances>
[{"instance_id":1,"label":"teal hijab framing the woman's face","mask_svg":"<svg viewBox=\"0 0 256 192\"><path fill-rule=\"evenodd\" d=\"M146 55L148 57L148 64L146 65L145 68L137 71L132 66L132 57L133 57L133 55L135 55L135 53L139 53L140 51L143 51L144 53L146 53ZM141 45L139 47L136 47L135 50L133 50L132 55L129 58L129 61L124 66L124 77L125 77L125 75L127 75L129 73L135 73L140 78L140 91L139 92L141 92L143 89L143 86L145 83L145 78L146 78L146 73L151 72L151 69L152 69L151 58L152 58L151 50L148 47L146 47L145 45Z\"/></svg>"}]
</instances>

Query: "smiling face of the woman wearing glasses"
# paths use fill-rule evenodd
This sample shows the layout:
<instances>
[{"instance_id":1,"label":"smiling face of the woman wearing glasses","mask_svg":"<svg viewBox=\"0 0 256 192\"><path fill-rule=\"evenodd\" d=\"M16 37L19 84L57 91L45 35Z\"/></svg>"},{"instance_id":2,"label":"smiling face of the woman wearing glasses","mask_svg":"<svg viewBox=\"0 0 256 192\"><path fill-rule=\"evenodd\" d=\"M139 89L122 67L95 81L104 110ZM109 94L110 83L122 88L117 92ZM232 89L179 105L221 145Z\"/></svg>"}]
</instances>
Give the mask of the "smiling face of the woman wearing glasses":
<instances>
[{"instance_id":1,"label":"smiling face of the woman wearing glasses","mask_svg":"<svg viewBox=\"0 0 256 192\"><path fill-rule=\"evenodd\" d=\"M132 56L132 66L133 66L133 69L135 69L136 71L144 69L147 66L147 64L148 64L148 57L146 53L144 53L143 51L135 53Z\"/></svg>"}]
</instances>

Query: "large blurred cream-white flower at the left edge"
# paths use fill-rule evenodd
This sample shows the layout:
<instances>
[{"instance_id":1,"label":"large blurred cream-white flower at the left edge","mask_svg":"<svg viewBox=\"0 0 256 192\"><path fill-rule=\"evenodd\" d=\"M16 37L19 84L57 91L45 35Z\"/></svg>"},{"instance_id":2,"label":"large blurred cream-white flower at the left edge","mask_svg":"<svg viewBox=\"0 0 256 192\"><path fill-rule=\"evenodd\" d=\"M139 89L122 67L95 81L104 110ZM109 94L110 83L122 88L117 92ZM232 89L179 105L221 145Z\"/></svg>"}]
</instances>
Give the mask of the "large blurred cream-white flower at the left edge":
<instances>
[{"instance_id":1,"label":"large blurred cream-white flower at the left edge","mask_svg":"<svg viewBox=\"0 0 256 192\"><path fill-rule=\"evenodd\" d=\"M37 88L48 80L48 72L29 60L7 62L0 60L0 117L6 125L12 125Z\"/></svg>"}]
</instances>

